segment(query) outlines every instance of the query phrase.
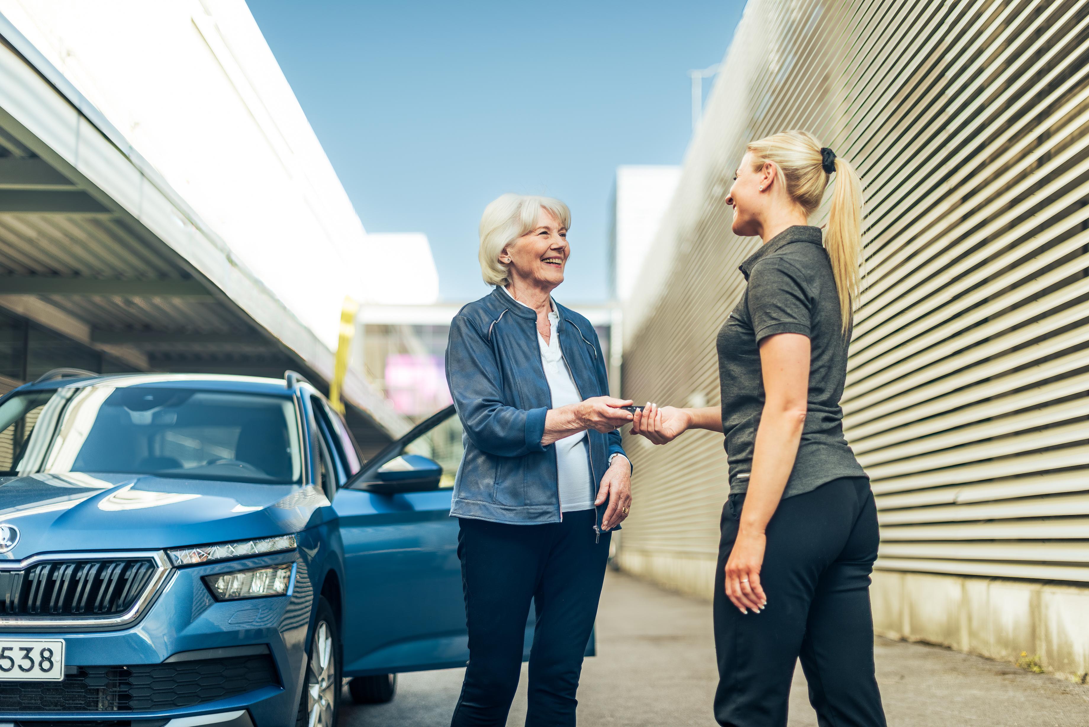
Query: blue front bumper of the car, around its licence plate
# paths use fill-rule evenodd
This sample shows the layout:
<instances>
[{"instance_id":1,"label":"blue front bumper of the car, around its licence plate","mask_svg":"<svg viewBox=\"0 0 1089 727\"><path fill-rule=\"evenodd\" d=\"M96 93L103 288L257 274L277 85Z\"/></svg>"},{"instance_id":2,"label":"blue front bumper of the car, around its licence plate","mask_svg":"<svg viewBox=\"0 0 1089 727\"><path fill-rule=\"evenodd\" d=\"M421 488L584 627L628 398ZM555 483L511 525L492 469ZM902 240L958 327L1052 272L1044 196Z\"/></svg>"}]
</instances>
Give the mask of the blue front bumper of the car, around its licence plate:
<instances>
[{"instance_id":1,"label":"blue front bumper of the car, around its licence plate","mask_svg":"<svg viewBox=\"0 0 1089 727\"><path fill-rule=\"evenodd\" d=\"M174 569L144 617L123 630L4 630L63 639L65 678L0 681L0 725L293 727L314 602L302 552ZM294 564L284 596L217 602L201 581L277 564Z\"/></svg>"}]
</instances>

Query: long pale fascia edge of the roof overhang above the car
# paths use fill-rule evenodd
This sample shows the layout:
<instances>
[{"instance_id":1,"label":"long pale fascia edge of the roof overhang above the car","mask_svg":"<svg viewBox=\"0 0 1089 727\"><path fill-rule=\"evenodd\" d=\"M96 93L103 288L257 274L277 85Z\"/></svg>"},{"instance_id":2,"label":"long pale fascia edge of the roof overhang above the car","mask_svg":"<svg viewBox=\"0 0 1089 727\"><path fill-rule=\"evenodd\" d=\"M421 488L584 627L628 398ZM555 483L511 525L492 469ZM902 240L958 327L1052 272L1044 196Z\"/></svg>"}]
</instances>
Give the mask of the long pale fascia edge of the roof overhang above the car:
<instances>
[{"instance_id":1,"label":"long pale fascia edge of the roof overhang above the car","mask_svg":"<svg viewBox=\"0 0 1089 727\"><path fill-rule=\"evenodd\" d=\"M0 85L0 108L49 147L49 161L86 180L93 187L88 192L97 190L96 196L107 197L110 206L139 221L316 373L331 379L333 352L231 254L125 136L2 13L0 36L15 50L0 49L0 69L22 82ZM344 381L344 398L392 437L411 428L408 420L354 371Z\"/></svg>"}]
</instances>

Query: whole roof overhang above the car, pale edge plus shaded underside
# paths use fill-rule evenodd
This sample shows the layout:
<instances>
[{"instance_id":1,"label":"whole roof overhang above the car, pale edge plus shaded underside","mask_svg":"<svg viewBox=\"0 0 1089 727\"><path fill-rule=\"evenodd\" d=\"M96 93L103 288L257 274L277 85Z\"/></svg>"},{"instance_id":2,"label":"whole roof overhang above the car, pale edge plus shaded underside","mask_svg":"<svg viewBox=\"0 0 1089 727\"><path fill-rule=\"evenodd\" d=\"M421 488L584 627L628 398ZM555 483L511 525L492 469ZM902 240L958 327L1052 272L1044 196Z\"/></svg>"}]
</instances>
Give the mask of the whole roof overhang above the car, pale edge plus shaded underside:
<instances>
[{"instance_id":1,"label":"whole roof overhang above the car, pale edge plus shaded underside","mask_svg":"<svg viewBox=\"0 0 1089 727\"><path fill-rule=\"evenodd\" d=\"M315 332L2 15L0 38L0 306L136 368L328 381ZM378 440L408 428L355 371L344 398Z\"/></svg>"}]
</instances>

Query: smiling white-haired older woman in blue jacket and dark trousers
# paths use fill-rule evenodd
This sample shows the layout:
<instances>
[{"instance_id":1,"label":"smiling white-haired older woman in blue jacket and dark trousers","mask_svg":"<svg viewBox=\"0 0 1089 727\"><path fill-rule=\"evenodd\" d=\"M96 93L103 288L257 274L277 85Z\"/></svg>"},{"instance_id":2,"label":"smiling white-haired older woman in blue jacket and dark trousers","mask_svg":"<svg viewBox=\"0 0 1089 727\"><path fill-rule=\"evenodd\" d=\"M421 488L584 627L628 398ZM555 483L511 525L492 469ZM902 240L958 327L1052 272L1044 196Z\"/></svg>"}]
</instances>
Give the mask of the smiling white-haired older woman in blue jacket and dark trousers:
<instances>
[{"instance_id":1,"label":"smiling white-haired older woman in blue jacket and dark trousers","mask_svg":"<svg viewBox=\"0 0 1089 727\"><path fill-rule=\"evenodd\" d=\"M526 725L574 725L583 655L610 531L627 517L632 468L590 323L552 300L571 249L556 199L504 194L480 219L494 290L454 317L446 378L465 428L451 514L469 662L453 726L505 725L529 603L537 611Z\"/></svg>"}]
</instances>

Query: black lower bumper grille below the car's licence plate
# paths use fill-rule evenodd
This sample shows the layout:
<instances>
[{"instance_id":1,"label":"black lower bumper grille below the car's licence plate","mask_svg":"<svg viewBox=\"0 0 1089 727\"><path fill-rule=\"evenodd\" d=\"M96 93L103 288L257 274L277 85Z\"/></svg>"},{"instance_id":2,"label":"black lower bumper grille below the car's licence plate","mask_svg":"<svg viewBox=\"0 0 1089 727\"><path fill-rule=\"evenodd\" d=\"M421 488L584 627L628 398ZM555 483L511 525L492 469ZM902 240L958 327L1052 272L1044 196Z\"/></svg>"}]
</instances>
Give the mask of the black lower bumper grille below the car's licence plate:
<instances>
[{"instance_id":1,"label":"black lower bumper grille below the car's licence plate","mask_svg":"<svg viewBox=\"0 0 1089 727\"><path fill-rule=\"evenodd\" d=\"M64 681L0 681L2 712L159 712L278 686L268 654L137 666L81 666Z\"/></svg>"}]
</instances>

